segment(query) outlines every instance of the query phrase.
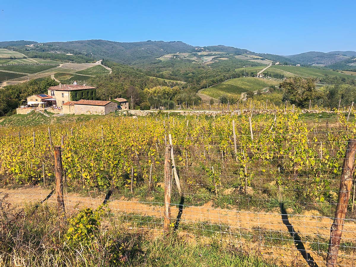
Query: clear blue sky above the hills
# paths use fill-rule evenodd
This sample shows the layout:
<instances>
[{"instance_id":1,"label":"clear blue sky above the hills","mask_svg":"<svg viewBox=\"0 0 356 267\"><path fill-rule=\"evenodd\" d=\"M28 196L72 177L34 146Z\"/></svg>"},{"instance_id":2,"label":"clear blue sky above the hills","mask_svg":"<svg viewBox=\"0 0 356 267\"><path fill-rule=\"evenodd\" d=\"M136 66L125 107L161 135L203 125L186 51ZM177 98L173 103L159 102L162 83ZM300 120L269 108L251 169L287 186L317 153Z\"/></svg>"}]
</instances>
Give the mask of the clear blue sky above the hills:
<instances>
[{"instance_id":1,"label":"clear blue sky above the hills","mask_svg":"<svg viewBox=\"0 0 356 267\"><path fill-rule=\"evenodd\" d=\"M4 11L2 11L4 10ZM356 1L0 1L0 41L183 41L254 52L356 51Z\"/></svg>"}]
</instances>

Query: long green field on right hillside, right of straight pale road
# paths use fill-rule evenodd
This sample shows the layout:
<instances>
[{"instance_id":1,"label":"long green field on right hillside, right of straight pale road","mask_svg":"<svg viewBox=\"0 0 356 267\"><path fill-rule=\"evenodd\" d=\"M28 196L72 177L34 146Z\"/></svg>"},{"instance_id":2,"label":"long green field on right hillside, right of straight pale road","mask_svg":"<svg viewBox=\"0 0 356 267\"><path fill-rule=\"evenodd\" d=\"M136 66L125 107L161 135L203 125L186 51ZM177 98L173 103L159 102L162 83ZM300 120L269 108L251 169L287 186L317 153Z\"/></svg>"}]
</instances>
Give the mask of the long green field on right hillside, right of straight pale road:
<instances>
[{"instance_id":1,"label":"long green field on right hillside, right of straight pale road","mask_svg":"<svg viewBox=\"0 0 356 267\"><path fill-rule=\"evenodd\" d=\"M279 73L284 74L286 77L292 76L302 76L302 77L315 77L322 78L325 76L338 76L350 78L351 76L345 73L339 73L333 70L326 69L314 69L314 68L306 68L306 67L295 67L295 66L279 66L273 65L269 67L266 72L269 73Z\"/></svg>"}]
</instances>

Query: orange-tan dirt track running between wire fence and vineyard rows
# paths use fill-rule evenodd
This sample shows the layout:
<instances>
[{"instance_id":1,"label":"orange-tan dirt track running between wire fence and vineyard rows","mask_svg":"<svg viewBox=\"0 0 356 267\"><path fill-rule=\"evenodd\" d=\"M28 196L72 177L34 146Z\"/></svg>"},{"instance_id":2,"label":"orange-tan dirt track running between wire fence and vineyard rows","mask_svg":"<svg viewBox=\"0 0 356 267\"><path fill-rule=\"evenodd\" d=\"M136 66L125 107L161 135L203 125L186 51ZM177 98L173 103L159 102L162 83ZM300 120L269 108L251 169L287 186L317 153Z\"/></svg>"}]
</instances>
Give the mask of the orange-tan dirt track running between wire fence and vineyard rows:
<instances>
[{"instance_id":1,"label":"orange-tan dirt track running between wire fence and vineyard rows","mask_svg":"<svg viewBox=\"0 0 356 267\"><path fill-rule=\"evenodd\" d=\"M51 189L43 189L41 187L0 189L0 197L8 194L9 198L7 198L7 201L17 208L23 208L26 204L38 203L46 199L50 192ZM98 194L96 197L83 197L77 193L64 192L64 203L66 205L67 213L69 214L86 207L95 209L103 203L104 199L105 194ZM45 204L56 208L56 197L49 197L48 200L45 201ZM109 199L108 201L109 208L114 216L122 214L135 216L136 214L163 218L163 206L152 204L153 203L150 201L143 202L137 201L136 199L127 200L124 197L114 200ZM171 213L174 220L178 214L178 205L172 205ZM333 223L333 220L331 218L320 216L318 211L310 210L304 211L303 214L288 214L287 216L289 223L294 227L294 231L303 236L302 240L305 240L306 236L323 236L324 238L327 238L330 234L330 226ZM261 244L257 244L258 242L256 241L256 244L252 243L247 246L244 239L241 239L241 237L236 238L237 236L235 236L235 233L237 232L252 231L253 229L262 229L263 231L273 231L279 232L281 235L288 235L287 227L282 220L279 209L276 209L274 212L234 210L233 206L231 209L221 209L212 206L212 203L208 202L203 206L185 206L180 221L183 223L204 222L212 225L226 225L230 227L230 230L227 230L226 234L229 234L229 231L231 231L231 234L229 234L229 237L227 238L230 238L231 242L241 242L241 245L246 246L247 251L253 247L253 249L263 251L264 258L275 260L274 257L276 256L273 256L273 254L278 250L278 254L282 254L282 265L286 258L288 258L288 260L293 260L296 256L303 261L299 254L296 255L293 245L290 247L284 246L283 248L278 246L261 247ZM157 231L155 229L153 230ZM355 238L355 231L356 224L351 221L346 221L342 237L353 240ZM186 233L186 235L189 236L188 233ZM194 235L191 235L190 237L194 238ZM303 242L305 242L304 245L306 250L310 253L310 256L314 258L315 262L319 264L319 267L325 266L325 258L320 255L320 253L312 251L307 241ZM350 262L347 261L347 256L350 255L340 251L339 264L344 264L345 266L350 265Z\"/></svg>"}]
</instances>

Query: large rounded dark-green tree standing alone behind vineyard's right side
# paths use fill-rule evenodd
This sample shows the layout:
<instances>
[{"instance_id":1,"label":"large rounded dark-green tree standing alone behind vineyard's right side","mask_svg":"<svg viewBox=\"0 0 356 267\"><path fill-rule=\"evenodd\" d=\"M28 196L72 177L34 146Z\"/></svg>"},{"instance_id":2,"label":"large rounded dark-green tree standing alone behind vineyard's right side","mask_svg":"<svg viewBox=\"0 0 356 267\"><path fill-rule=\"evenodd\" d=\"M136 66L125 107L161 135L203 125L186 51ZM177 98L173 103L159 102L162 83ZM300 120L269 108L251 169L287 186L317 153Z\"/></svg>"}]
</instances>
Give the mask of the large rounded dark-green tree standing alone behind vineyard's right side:
<instances>
[{"instance_id":1,"label":"large rounded dark-green tree standing alone behind vineyard's right side","mask_svg":"<svg viewBox=\"0 0 356 267\"><path fill-rule=\"evenodd\" d=\"M295 104L300 108L307 108L309 100L318 98L318 91L315 89L316 79L312 77L293 77L281 83L284 89L283 101L288 100L290 104Z\"/></svg>"}]
</instances>

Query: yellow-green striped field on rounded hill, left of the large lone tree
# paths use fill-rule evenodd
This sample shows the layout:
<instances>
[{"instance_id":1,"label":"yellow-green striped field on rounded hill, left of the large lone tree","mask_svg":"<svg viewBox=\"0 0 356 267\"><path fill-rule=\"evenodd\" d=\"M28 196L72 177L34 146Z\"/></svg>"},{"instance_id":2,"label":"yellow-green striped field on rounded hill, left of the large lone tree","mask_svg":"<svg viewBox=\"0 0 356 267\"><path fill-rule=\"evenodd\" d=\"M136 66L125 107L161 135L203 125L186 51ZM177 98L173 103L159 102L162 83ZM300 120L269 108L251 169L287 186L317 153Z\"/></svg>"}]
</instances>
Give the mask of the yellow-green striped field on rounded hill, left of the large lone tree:
<instances>
[{"instance_id":1,"label":"yellow-green striped field on rounded hill, left of the large lone tree","mask_svg":"<svg viewBox=\"0 0 356 267\"><path fill-rule=\"evenodd\" d=\"M201 94L211 96L213 98L219 98L221 95L233 95L240 96L241 93L246 91L257 91L271 85L278 85L279 83L274 80L266 80L255 77L241 77L231 80L227 80L221 84L214 85L212 87L201 90Z\"/></svg>"}]
</instances>

